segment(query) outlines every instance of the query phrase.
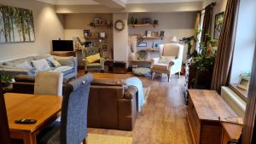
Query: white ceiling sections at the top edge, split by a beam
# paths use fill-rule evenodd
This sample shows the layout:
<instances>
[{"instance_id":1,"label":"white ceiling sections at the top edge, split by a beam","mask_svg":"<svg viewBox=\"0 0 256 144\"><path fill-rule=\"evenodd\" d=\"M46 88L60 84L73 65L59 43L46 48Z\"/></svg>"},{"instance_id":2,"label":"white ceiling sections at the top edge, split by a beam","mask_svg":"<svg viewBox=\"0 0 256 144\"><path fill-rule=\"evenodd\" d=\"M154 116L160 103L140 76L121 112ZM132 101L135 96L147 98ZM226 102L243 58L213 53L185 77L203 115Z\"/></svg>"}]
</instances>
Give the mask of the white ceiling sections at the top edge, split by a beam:
<instances>
[{"instance_id":1,"label":"white ceiling sections at the top edge, split by a beam","mask_svg":"<svg viewBox=\"0 0 256 144\"><path fill-rule=\"evenodd\" d=\"M94 0L37 0L44 3L55 5L94 5L100 4ZM119 0L123 3L183 3L183 2L199 2L202 0Z\"/></svg>"}]
</instances>

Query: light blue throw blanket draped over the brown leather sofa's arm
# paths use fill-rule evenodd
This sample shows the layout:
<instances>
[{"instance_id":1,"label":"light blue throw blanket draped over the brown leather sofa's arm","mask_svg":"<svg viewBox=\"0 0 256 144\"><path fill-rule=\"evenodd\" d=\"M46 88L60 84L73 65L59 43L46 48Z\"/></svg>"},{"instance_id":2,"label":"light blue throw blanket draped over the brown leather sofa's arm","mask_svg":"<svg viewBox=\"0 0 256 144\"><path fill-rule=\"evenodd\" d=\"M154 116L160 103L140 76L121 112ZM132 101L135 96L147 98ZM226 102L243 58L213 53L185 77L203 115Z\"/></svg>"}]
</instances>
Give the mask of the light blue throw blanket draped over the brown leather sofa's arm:
<instances>
[{"instance_id":1,"label":"light blue throw blanket draped over the brown leather sofa's arm","mask_svg":"<svg viewBox=\"0 0 256 144\"><path fill-rule=\"evenodd\" d=\"M125 80L125 84L136 86L138 90L137 97L137 111L141 112L143 105L145 104L144 92L143 92L143 82L136 77L128 78Z\"/></svg>"}]
</instances>

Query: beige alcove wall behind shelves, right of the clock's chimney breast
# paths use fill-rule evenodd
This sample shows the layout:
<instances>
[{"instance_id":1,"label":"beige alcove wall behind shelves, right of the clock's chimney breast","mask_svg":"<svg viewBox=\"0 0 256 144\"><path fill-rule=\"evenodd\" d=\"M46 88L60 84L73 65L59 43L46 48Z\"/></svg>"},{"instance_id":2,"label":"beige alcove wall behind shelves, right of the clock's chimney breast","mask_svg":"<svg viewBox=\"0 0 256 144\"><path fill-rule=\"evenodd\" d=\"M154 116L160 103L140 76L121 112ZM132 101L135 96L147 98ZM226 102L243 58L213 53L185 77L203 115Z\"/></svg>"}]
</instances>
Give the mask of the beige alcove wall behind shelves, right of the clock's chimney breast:
<instances>
[{"instance_id":1,"label":"beige alcove wall behind shelves, right of the clock's chimney breast","mask_svg":"<svg viewBox=\"0 0 256 144\"><path fill-rule=\"evenodd\" d=\"M150 18L151 20L159 20L159 25L155 27L129 27L129 35L132 34L145 34L146 31L151 32L165 32L165 37L162 40L144 40L143 42L147 43L147 47L137 47L137 50L151 48L153 42L158 43L170 43L173 36L176 36L177 39L182 37L189 37L194 34L195 26L195 12L179 12L179 13L137 13L129 14L129 20L131 16L137 18L138 23L142 23L142 19L145 17ZM186 59L187 49L184 49L183 61ZM158 53L152 53L151 57L159 56Z\"/></svg>"}]
</instances>

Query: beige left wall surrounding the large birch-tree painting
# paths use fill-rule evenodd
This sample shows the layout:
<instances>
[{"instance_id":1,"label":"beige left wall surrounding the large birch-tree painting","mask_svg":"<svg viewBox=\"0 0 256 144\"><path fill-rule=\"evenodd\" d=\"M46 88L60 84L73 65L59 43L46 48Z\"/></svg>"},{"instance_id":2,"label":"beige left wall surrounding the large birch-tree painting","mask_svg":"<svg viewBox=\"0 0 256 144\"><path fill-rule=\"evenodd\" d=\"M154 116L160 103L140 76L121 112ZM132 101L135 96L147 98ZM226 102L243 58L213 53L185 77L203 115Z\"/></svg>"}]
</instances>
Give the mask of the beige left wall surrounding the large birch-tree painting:
<instances>
[{"instance_id":1,"label":"beige left wall surrounding the large birch-tree painting","mask_svg":"<svg viewBox=\"0 0 256 144\"><path fill-rule=\"evenodd\" d=\"M55 14L54 6L35 0L1 0L0 4L32 9L36 34L32 43L0 43L0 60L49 53L51 40L64 37L61 16Z\"/></svg>"}]
</instances>

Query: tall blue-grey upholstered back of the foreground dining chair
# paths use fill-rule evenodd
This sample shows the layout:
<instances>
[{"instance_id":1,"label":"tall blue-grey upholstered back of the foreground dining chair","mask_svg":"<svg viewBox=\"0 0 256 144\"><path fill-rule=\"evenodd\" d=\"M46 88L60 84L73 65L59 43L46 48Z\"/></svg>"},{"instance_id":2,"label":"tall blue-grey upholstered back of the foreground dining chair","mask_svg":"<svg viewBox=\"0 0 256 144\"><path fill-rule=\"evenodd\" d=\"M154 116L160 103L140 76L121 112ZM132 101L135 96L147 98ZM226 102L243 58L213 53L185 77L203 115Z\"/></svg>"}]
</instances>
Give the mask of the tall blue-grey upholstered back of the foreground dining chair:
<instances>
[{"instance_id":1,"label":"tall blue-grey upholstered back of the foreground dining chair","mask_svg":"<svg viewBox=\"0 0 256 144\"><path fill-rule=\"evenodd\" d=\"M92 80L92 75L87 73L63 88L61 144L79 144L87 136L87 107Z\"/></svg>"}]
</instances>

